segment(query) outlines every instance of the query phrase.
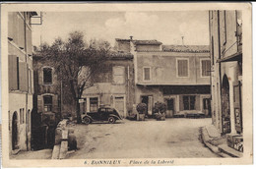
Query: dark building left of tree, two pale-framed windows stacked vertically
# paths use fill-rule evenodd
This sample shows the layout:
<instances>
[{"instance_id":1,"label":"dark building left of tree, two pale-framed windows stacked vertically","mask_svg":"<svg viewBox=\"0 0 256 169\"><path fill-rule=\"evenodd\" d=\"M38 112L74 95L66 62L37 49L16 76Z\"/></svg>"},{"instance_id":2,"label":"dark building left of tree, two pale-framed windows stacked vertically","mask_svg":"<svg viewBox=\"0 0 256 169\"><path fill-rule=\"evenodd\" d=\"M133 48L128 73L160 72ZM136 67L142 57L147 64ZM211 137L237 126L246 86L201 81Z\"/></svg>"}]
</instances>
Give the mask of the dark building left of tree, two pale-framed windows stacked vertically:
<instances>
[{"instance_id":1,"label":"dark building left of tree, two pale-framed windows stacked vertically","mask_svg":"<svg viewBox=\"0 0 256 169\"><path fill-rule=\"evenodd\" d=\"M61 116L61 84L49 61L34 52L32 149L41 149L54 143L54 130Z\"/></svg>"}]
</instances>

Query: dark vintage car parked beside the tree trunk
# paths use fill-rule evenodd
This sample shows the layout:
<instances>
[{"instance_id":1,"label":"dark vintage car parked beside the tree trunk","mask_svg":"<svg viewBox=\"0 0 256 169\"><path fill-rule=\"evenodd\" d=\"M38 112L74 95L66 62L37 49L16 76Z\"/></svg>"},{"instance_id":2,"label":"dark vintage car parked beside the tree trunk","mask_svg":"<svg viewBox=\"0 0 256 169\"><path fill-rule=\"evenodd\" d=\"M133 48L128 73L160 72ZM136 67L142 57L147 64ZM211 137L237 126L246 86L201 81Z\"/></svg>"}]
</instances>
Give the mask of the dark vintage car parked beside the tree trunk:
<instances>
[{"instance_id":1,"label":"dark vintage car parked beside the tree trunk","mask_svg":"<svg viewBox=\"0 0 256 169\"><path fill-rule=\"evenodd\" d=\"M96 112L87 112L82 115L82 122L87 125L98 121L107 121L110 124L114 124L116 120L122 120L122 118L117 110L112 107L100 107Z\"/></svg>"}]
</instances>

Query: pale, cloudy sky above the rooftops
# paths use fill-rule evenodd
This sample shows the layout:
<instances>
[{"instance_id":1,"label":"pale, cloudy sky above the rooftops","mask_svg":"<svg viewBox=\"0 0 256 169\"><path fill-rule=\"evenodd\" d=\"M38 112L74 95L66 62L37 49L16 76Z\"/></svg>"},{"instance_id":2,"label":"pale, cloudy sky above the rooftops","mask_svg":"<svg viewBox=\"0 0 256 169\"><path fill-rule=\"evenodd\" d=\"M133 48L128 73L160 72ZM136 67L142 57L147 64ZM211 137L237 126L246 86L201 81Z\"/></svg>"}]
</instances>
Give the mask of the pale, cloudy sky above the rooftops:
<instances>
[{"instance_id":1,"label":"pale, cloudy sky above the rooftops","mask_svg":"<svg viewBox=\"0 0 256 169\"><path fill-rule=\"evenodd\" d=\"M163 44L208 45L208 11L171 12L46 12L42 25L32 26L32 43L51 44L80 30L86 40L115 38L157 39Z\"/></svg>"}]
</instances>

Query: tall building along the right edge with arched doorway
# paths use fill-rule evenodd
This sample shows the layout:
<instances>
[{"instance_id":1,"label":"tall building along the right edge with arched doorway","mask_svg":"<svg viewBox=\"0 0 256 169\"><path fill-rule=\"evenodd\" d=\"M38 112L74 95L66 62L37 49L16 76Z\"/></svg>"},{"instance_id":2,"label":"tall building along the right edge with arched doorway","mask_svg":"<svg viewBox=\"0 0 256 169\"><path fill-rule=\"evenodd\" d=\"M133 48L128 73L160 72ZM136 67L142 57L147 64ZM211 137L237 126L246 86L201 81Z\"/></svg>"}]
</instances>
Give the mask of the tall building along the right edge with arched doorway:
<instances>
[{"instance_id":1,"label":"tall building along the right edge with arched doorway","mask_svg":"<svg viewBox=\"0 0 256 169\"><path fill-rule=\"evenodd\" d=\"M241 11L210 11L213 123L225 134L242 135Z\"/></svg>"}]
</instances>

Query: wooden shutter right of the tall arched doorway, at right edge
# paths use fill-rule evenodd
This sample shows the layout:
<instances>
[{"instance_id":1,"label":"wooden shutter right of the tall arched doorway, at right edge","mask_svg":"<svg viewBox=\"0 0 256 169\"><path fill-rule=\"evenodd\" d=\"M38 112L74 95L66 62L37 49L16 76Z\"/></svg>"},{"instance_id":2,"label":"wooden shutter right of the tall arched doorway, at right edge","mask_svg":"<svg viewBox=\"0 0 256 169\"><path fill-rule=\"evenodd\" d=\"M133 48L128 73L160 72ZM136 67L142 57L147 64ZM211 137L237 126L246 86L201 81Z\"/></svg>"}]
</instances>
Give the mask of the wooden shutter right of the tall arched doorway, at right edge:
<instances>
[{"instance_id":1,"label":"wooden shutter right of the tall arched doorway, at right edge","mask_svg":"<svg viewBox=\"0 0 256 169\"><path fill-rule=\"evenodd\" d=\"M239 81L233 83L233 108L235 130L242 132L242 109L241 109L241 84Z\"/></svg>"}]
</instances>

